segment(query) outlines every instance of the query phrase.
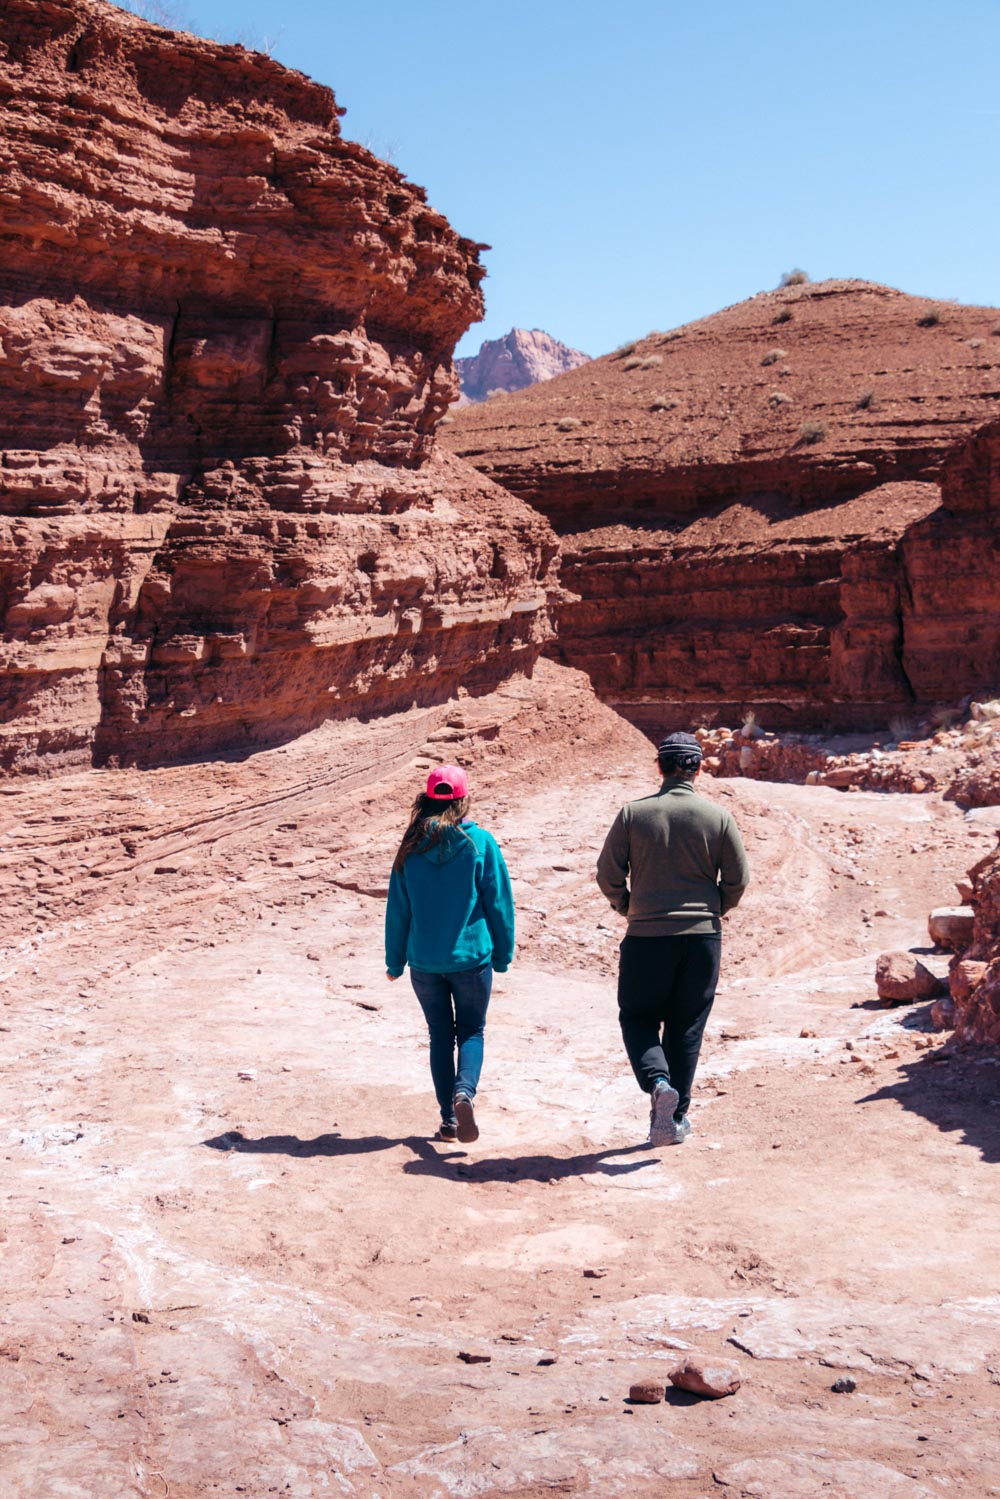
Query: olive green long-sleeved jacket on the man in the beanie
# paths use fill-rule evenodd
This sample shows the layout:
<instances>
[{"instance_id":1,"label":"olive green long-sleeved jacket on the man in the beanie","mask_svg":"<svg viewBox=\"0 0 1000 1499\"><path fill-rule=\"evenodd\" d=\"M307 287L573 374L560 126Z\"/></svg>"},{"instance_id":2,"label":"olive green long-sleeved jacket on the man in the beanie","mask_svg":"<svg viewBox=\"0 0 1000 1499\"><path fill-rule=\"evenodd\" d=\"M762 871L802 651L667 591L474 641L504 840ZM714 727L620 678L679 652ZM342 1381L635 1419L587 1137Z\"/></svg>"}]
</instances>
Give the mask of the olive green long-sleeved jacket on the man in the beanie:
<instances>
[{"instance_id":1,"label":"olive green long-sleeved jacket on the man in the beanie","mask_svg":"<svg viewBox=\"0 0 1000 1499\"><path fill-rule=\"evenodd\" d=\"M750 865L739 829L690 781L627 802L597 860L597 883L630 937L702 935L739 904Z\"/></svg>"}]
</instances>

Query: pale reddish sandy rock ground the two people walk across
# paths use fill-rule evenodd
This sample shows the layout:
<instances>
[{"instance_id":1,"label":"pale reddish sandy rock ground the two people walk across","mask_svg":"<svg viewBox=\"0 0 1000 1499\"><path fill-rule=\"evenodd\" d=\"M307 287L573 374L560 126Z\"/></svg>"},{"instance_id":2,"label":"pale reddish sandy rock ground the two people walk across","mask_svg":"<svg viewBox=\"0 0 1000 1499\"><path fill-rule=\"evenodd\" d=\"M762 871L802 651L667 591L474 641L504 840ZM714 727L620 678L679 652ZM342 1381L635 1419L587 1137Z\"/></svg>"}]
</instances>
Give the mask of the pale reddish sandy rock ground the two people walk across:
<instances>
[{"instance_id":1,"label":"pale reddish sandy rock ground the two people walk across","mask_svg":"<svg viewBox=\"0 0 1000 1499\"><path fill-rule=\"evenodd\" d=\"M468 1150L430 1139L379 947L400 809L445 750L522 916ZM936 797L709 784L756 883L694 1132L654 1151L591 880L646 784L645 741L544 669L0 800L4 1493L1000 1495L997 1058L871 982L994 835ZM625 1402L687 1346L742 1390Z\"/></svg>"}]
</instances>

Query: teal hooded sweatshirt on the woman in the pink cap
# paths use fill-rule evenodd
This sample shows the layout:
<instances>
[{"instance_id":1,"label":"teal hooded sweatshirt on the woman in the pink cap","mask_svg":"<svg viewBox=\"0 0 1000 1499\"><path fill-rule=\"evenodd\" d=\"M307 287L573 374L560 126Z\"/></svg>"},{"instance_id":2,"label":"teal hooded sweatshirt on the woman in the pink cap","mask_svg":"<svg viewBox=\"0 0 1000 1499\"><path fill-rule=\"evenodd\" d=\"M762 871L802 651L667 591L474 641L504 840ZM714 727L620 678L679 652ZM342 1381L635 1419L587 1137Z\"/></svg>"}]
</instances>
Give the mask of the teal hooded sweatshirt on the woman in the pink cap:
<instances>
[{"instance_id":1,"label":"teal hooded sweatshirt on the woman in the pink cap","mask_svg":"<svg viewBox=\"0 0 1000 1499\"><path fill-rule=\"evenodd\" d=\"M466 820L445 827L433 848L417 848L393 869L385 905L385 971L465 973L514 956L514 896L492 833Z\"/></svg>"}]
</instances>

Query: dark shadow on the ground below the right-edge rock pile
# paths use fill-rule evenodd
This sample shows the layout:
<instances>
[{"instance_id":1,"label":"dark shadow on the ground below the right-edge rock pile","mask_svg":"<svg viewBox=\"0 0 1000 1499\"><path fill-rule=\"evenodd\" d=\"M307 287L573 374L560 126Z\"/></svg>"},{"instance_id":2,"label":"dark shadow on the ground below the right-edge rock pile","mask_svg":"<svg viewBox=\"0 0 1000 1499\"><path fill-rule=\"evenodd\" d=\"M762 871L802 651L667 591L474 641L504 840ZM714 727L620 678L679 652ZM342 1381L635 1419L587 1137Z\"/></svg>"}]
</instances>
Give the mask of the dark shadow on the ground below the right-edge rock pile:
<instances>
[{"instance_id":1,"label":"dark shadow on the ground below the right-edge rock pile","mask_svg":"<svg viewBox=\"0 0 1000 1499\"><path fill-rule=\"evenodd\" d=\"M915 1027L919 1028L919 1027ZM858 1103L894 1099L922 1114L940 1130L961 1132L957 1144L972 1145L984 1160L1000 1160L1000 1066L976 1051L928 1051L900 1066L900 1081L868 1093Z\"/></svg>"}]
</instances>

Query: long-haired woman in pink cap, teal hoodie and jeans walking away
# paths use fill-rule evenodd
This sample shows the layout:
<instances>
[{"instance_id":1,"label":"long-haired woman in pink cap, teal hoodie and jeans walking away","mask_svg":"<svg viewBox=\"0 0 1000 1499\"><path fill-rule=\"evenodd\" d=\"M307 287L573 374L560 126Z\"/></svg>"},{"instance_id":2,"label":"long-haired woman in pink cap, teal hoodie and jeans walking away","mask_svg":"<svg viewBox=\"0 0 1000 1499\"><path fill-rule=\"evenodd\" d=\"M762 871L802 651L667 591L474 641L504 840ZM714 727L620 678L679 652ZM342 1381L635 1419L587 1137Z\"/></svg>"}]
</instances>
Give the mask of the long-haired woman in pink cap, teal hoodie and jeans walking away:
<instances>
[{"instance_id":1,"label":"long-haired woman in pink cap, teal hoodie and jeans walking away","mask_svg":"<svg viewBox=\"0 0 1000 1499\"><path fill-rule=\"evenodd\" d=\"M385 976L409 982L430 1031L438 1139L480 1138L472 1100L495 973L514 956L514 901L504 856L469 811L469 778L439 764L414 802L393 860L385 907ZM457 1064L456 1064L457 1046Z\"/></svg>"}]
</instances>

